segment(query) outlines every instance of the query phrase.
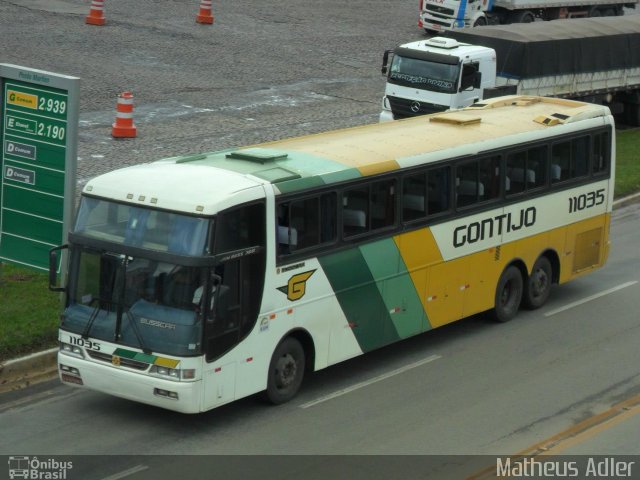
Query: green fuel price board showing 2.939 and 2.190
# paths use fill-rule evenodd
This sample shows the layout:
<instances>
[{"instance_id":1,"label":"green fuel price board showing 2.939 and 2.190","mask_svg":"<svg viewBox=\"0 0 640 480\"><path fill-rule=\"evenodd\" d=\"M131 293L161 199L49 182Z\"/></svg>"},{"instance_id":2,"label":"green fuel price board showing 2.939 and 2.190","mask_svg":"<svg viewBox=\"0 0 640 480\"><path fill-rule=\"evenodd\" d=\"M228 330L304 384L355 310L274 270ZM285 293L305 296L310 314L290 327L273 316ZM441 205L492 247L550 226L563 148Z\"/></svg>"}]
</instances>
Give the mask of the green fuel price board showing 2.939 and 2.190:
<instances>
[{"instance_id":1,"label":"green fuel price board showing 2.939 and 2.190","mask_svg":"<svg viewBox=\"0 0 640 480\"><path fill-rule=\"evenodd\" d=\"M75 199L79 79L0 64L0 261L47 270Z\"/></svg>"}]
</instances>

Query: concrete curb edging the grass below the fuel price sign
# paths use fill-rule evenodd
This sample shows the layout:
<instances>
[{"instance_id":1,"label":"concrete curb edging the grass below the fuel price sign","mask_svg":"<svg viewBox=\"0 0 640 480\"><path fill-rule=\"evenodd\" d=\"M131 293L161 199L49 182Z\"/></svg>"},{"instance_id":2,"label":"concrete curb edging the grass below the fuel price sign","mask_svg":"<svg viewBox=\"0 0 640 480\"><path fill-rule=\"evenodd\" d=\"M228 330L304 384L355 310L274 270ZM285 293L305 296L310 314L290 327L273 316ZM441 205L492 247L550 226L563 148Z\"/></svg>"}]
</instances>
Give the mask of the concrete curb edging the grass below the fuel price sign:
<instances>
[{"instance_id":1,"label":"concrete curb edging the grass below the fuel price sign","mask_svg":"<svg viewBox=\"0 0 640 480\"><path fill-rule=\"evenodd\" d=\"M0 393L54 378L58 373L57 354L58 348L51 348L0 363Z\"/></svg>"}]
</instances>

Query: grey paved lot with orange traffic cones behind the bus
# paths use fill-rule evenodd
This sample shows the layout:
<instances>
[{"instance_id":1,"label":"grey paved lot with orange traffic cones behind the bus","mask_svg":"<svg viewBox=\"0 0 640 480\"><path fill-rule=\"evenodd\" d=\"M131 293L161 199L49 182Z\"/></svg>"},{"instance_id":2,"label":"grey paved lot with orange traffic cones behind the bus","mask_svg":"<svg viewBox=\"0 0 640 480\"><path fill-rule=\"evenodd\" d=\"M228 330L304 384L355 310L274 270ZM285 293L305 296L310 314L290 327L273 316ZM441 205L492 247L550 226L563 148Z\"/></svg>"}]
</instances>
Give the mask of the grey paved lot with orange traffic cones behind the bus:
<instances>
[{"instance_id":1,"label":"grey paved lot with orange traffic cones behind the bus","mask_svg":"<svg viewBox=\"0 0 640 480\"><path fill-rule=\"evenodd\" d=\"M425 38L416 0L0 1L0 63L81 78L78 179L120 166L377 121L382 53ZM111 138L117 95L138 136Z\"/></svg>"}]
</instances>

